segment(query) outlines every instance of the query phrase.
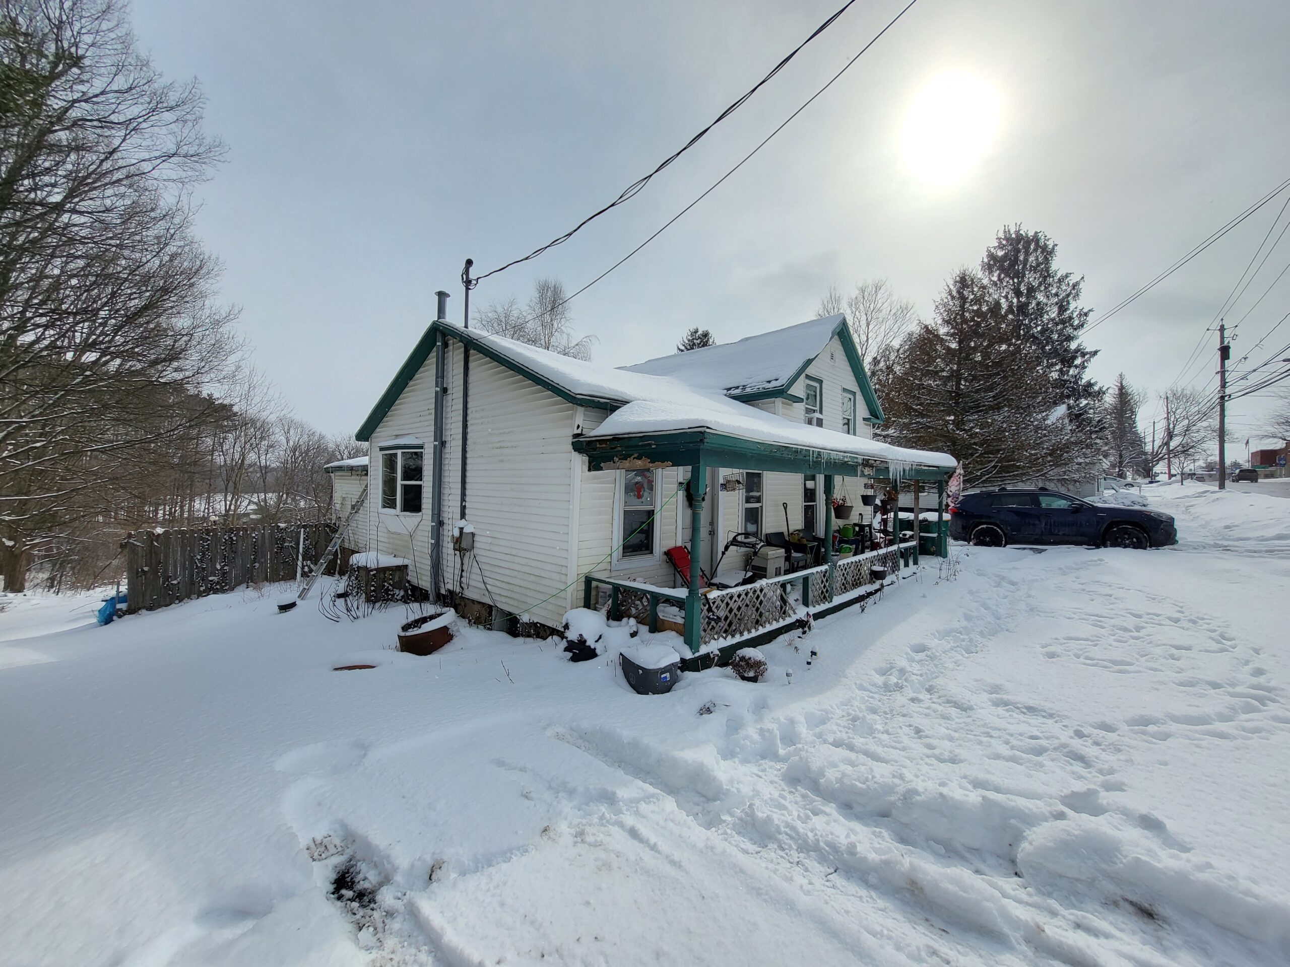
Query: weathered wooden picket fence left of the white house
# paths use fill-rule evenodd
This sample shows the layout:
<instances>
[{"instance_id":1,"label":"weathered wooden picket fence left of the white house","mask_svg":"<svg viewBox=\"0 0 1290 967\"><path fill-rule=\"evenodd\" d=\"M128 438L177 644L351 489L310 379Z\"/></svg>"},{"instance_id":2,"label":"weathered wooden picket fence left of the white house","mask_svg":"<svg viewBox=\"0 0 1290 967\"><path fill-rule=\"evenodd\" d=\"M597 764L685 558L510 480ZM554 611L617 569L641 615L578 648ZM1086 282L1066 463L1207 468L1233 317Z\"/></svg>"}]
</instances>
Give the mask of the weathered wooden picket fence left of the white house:
<instances>
[{"instance_id":1,"label":"weathered wooden picket fence left of the white house","mask_svg":"<svg viewBox=\"0 0 1290 967\"><path fill-rule=\"evenodd\" d=\"M334 523L133 531L125 538L128 614L233 591L295 580L304 534L310 574L335 534Z\"/></svg>"}]
</instances>

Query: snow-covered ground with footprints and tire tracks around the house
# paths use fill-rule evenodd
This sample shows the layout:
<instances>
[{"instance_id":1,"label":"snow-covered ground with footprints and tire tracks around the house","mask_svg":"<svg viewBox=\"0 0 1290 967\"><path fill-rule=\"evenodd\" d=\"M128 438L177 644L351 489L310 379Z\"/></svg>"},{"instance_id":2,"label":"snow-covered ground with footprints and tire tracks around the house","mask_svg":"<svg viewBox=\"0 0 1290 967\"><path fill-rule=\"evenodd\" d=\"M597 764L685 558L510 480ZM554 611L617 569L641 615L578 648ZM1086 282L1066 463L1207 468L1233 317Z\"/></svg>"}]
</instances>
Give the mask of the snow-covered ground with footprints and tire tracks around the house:
<instances>
[{"instance_id":1,"label":"snow-covered ground with footprints and tire tracks around the house","mask_svg":"<svg viewBox=\"0 0 1290 967\"><path fill-rule=\"evenodd\" d=\"M1178 547L956 548L651 698L280 589L10 598L0 963L1286 963L1287 504L1147 496Z\"/></svg>"}]
</instances>

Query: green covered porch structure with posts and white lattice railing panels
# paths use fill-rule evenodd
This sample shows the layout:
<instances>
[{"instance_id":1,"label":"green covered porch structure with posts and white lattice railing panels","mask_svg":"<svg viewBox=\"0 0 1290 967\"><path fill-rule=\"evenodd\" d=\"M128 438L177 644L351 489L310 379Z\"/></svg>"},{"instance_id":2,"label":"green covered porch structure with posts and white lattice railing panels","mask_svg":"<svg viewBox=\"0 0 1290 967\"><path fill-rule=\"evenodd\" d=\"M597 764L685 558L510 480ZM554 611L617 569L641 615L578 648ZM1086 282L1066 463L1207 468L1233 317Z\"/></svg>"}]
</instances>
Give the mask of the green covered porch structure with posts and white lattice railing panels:
<instances>
[{"instance_id":1,"label":"green covered porch structure with posts and white lattice railing panels","mask_svg":"<svg viewBox=\"0 0 1290 967\"><path fill-rule=\"evenodd\" d=\"M836 435L831 435L836 436ZM660 588L628 580L588 575L583 598L592 606L595 585L610 591L611 609L648 621L651 630L660 625L659 609L684 614L684 638L695 660L711 655L712 660L749 645L760 645L793 628L808 614L822 616L858 603L881 589L885 580L902 567L920 561L920 498L926 498L929 511L937 512L934 547L944 552L939 539L944 525L946 481L952 465L906 459L882 459L863 450L880 449L873 441L857 438L855 451L820 449L788 441L749 440L713 429L588 436L573 441L577 453L587 458L588 469L662 469L689 468L689 480L681 484L684 502L679 508L690 514L689 587ZM902 451L902 456L921 456L918 451ZM928 454L926 456L933 456ZM703 587L704 527L702 526L707 493L708 468L762 473L818 474L823 480L824 521L823 562L774 578L765 578L738 587ZM838 477L869 478L885 486L907 484L915 500L915 534L902 540L900 516L890 516L889 543L864 553L838 558L833 549L835 487ZM713 538L719 539L719 538ZM668 623L662 621L663 625Z\"/></svg>"}]
</instances>

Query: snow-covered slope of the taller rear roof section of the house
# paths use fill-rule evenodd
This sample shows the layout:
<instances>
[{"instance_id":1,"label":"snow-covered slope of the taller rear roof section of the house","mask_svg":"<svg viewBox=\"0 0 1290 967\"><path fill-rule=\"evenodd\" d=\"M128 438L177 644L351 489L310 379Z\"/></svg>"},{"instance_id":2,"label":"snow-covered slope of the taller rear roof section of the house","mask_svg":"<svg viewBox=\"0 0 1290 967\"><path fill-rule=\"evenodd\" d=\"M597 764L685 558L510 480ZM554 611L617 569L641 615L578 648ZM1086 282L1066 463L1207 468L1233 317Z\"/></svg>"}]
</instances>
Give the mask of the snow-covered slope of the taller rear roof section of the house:
<instances>
[{"instance_id":1,"label":"snow-covered slope of the taller rear roof section of the house","mask_svg":"<svg viewBox=\"0 0 1290 967\"><path fill-rule=\"evenodd\" d=\"M715 389L726 396L788 389L845 325L845 316L823 316L770 333L747 335L733 343L659 356L623 369L673 376L688 386Z\"/></svg>"}]
</instances>

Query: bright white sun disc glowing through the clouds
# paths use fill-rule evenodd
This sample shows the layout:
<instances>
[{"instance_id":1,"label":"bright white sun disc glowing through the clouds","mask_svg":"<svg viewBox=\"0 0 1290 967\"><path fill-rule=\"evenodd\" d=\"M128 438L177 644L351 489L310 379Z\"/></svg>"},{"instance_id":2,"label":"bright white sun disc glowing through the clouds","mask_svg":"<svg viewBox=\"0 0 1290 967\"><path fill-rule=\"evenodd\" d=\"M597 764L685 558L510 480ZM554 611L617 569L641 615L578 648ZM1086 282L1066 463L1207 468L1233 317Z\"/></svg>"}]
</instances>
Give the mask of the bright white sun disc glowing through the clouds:
<instances>
[{"instance_id":1,"label":"bright white sun disc glowing through the clouds","mask_svg":"<svg viewBox=\"0 0 1290 967\"><path fill-rule=\"evenodd\" d=\"M922 181L952 186L989 150L998 119L998 92L989 83L970 73L938 75L918 92L906 115L904 161Z\"/></svg>"}]
</instances>

